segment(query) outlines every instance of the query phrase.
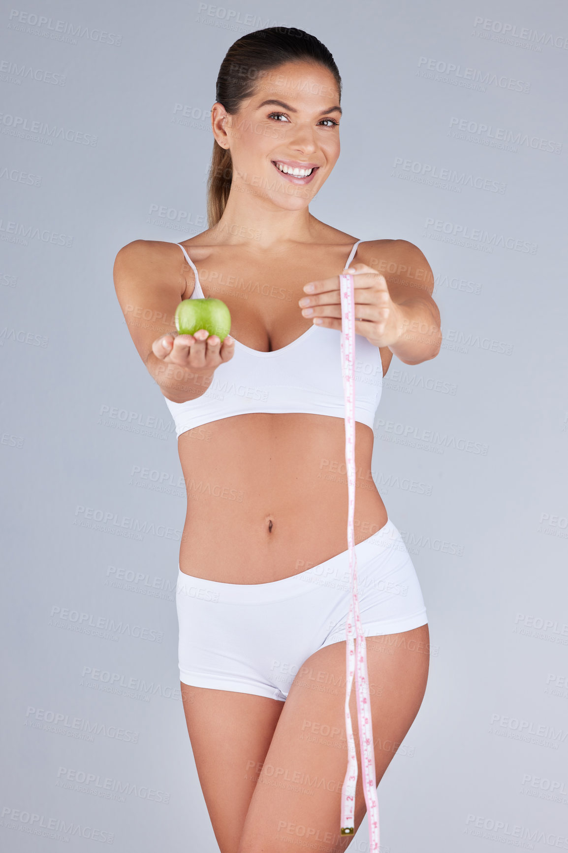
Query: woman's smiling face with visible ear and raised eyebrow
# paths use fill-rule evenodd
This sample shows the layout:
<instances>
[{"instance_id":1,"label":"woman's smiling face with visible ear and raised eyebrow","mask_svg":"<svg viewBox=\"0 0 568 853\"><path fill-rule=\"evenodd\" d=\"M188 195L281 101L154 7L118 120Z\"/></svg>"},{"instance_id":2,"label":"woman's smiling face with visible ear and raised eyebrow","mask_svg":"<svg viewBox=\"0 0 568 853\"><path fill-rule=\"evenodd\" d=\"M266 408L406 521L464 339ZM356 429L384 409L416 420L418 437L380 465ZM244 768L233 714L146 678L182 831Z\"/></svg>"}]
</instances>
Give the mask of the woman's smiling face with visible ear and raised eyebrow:
<instances>
[{"instance_id":1,"label":"woman's smiling face with visible ear and raised eyebrow","mask_svg":"<svg viewBox=\"0 0 568 853\"><path fill-rule=\"evenodd\" d=\"M309 62L287 62L262 73L254 95L235 115L216 103L215 138L232 156L231 192L285 210L307 206L336 165L340 119L336 79ZM312 171L294 176L295 168Z\"/></svg>"}]
</instances>

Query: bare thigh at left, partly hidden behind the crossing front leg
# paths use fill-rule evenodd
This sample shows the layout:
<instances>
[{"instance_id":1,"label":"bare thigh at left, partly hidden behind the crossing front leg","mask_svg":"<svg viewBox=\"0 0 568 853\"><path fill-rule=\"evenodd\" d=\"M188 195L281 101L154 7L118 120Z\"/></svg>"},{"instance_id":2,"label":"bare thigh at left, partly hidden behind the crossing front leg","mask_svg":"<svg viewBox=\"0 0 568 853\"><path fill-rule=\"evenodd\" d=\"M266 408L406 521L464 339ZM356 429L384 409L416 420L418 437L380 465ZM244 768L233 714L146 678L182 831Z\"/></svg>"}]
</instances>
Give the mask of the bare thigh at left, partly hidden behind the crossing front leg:
<instances>
[{"instance_id":1,"label":"bare thigh at left, partly hidden behind the crossing front leg","mask_svg":"<svg viewBox=\"0 0 568 853\"><path fill-rule=\"evenodd\" d=\"M284 702L181 682L199 783L221 853L238 843Z\"/></svg>"}]
</instances>

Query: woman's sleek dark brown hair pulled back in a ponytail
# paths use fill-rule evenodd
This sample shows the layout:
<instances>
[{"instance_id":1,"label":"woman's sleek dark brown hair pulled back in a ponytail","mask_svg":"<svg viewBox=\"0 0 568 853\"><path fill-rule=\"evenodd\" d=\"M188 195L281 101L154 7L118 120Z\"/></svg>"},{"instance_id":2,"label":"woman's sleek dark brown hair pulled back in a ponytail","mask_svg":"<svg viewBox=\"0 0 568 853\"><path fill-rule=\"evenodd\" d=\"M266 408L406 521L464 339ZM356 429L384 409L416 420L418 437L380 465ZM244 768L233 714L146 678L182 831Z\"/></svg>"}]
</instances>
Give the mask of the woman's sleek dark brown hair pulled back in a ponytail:
<instances>
[{"instance_id":1,"label":"woman's sleek dark brown hair pulled back in a ponytail","mask_svg":"<svg viewBox=\"0 0 568 853\"><path fill-rule=\"evenodd\" d=\"M267 26L238 38L227 50L217 76L215 101L229 115L255 93L256 78L285 62L313 62L327 68L336 78L341 102L341 77L330 51L318 38L295 26ZM207 222L213 228L223 215L232 183L232 157L214 139L207 180Z\"/></svg>"}]
</instances>

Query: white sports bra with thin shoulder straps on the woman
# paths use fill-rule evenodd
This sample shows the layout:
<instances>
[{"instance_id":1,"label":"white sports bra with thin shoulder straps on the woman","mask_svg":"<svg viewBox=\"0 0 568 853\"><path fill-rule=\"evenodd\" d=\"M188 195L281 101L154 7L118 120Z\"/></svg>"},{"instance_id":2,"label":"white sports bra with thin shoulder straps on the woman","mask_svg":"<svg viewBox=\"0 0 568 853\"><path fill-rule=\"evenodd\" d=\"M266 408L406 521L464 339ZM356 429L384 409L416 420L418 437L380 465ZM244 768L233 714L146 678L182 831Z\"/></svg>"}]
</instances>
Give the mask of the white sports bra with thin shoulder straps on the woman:
<instances>
[{"instance_id":1,"label":"white sports bra with thin shoulder straps on the woman","mask_svg":"<svg viewBox=\"0 0 568 853\"><path fill-rule=\"evenodd\" d=\"M360 242L354 244L346 268ZM195 273L190 299L205 299L198 270L184 247L180 248ZM382 393L381 353L360 334L355 335L354 368L355 420L372 429ZM344 419L341 332L313 325L272 352L252 350L235 338L232 359L215 368L211 384L201 397L186 403L174 403L167 397L164 400L178 437L193 427L251 412L302 412Z\"/></svg>"}]
</instances>

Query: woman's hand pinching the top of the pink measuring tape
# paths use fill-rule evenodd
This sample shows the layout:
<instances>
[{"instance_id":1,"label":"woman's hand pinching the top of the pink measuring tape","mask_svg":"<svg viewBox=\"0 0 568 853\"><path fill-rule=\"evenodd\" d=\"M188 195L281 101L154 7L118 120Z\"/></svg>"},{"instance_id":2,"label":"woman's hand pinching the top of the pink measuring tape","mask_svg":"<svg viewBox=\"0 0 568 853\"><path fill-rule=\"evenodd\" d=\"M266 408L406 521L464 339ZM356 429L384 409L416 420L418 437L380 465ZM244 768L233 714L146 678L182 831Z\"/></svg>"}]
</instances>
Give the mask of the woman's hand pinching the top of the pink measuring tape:
<instances>
[{"instance_id":1,"label":"woman's hand pinching the top of the pink measuring tape","mask_svg":"<svg viewBox=\"0 0 568 853\"><path fill-rule=\"evenodd\" d=\"M367 264L351 264L343 275L353 274L355 334L362 334L371 344L391 346L399 340L403 329L402 311L388 293L387 280ZM311 289L310 289L311 288ZM304 285L307 294L299 300L302 316L313 317L317 325L341 332L341 292L339 276ZM312 313L307 311L312 310Z\"/></svg>"}]
</instances>

